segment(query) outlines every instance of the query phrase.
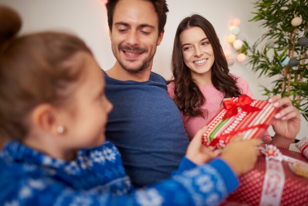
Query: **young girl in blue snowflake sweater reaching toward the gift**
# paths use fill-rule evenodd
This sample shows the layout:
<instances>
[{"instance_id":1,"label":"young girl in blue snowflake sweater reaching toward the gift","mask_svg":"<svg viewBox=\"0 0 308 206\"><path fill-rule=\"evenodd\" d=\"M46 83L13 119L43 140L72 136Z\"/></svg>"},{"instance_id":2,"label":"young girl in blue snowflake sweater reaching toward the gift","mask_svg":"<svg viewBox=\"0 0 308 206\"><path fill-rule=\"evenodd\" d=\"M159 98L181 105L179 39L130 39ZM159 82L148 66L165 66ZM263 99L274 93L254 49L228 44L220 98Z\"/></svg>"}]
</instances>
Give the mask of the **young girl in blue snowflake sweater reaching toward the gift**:
<instances>
[{"instance_id":1,"label":"young girl in blue snowflake sweater reaching toward the gift","mask_svg":"<svg viewBox=\"0 0 308 206\"><path fill-rule=\"evenodd\" d=\"M0 205L216 205L254 166L258 140L232 142L203 165L216 155L201 144L203 128L170 179L135 190L105 141L112 104L86 44L56 32L15 37L21 22L7 7L0 25L0 133L10 139Z\"/></svg>"}]
</instances>

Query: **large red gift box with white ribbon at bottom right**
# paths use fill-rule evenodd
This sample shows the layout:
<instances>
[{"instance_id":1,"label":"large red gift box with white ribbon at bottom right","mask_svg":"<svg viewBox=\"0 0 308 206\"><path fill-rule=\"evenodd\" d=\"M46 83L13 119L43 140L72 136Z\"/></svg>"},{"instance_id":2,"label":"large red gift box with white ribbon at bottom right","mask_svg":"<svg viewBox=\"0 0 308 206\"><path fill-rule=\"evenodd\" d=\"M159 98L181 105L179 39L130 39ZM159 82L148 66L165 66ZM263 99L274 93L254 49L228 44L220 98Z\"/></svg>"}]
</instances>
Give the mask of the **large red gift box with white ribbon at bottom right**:
<instances>
[{"instance_id":1,"label":"large red gift box with white ribbon at bottom right","mask_svg":"<svg viewBox=\"0 0 308 206\"><path fill-rule=\"evenodd\" d=\"M286 157L308 163L301 153L283 148L279 150ZM276 173L274 173L265 181L266 161L269 160L266 160L264 155L259 156L254 169L240 176L240 187L227 197L221 206L308 206L308 178L295 174L290 170L289 162L282 161L284 179L275 178ZM275 181L284 182L280 192ZM266 193L271 197L266 196ZM265 201L261 201L261 196L264 196ZM264 203L271 202L271 198L278 198L279 203Z\"/></svg>"}]
</instances>

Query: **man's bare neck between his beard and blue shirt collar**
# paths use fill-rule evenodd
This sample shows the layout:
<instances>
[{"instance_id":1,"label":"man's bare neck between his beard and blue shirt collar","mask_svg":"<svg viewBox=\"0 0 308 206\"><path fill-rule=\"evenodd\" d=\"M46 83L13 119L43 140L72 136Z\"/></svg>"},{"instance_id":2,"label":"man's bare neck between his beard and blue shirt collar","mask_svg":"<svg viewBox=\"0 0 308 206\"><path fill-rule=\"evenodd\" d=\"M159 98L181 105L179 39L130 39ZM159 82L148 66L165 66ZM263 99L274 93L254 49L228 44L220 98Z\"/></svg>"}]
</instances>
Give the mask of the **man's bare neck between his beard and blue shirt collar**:
<instances>
[{"instance_id":1,"label":"man's bare neck between his beard and blue shirt collar","mask_svg":"<svg viewBox=\"0 0 308 206\"><path fill-rule=\"evenodd\" d=\"M116 64L111 68L105 71L107 75L111 78L120 80L120 81L127 81L133 80L138 82L149 81L151 75L151 69L145 69L141 72L129 72L122 68L122 66L116 62Z\"/></svg>"}]
</instances>

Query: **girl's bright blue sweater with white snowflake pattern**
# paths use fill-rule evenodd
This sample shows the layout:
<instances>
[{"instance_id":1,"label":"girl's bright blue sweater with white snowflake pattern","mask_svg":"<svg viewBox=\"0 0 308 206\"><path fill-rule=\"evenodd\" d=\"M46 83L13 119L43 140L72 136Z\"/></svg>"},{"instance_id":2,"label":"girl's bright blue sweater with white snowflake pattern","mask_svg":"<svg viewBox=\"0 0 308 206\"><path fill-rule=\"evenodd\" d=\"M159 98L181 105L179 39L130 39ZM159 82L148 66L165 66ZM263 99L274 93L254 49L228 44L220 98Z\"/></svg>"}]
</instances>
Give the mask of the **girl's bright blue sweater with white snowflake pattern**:
<instances>
[{"instance_id":1,"label":"girl's bright blue sweater with white snowflake pattern","mask_svg":"<svg viewBox=\"0 0 308 206\"><path fill-rule=\"evenodd\" d=\"M3 206L213 206L239 184L220 159L197 167L184 158L171 178L134 189L108 141L71 162L10 141L0 152L0 176Z\"/></svg>"}]
</instances>

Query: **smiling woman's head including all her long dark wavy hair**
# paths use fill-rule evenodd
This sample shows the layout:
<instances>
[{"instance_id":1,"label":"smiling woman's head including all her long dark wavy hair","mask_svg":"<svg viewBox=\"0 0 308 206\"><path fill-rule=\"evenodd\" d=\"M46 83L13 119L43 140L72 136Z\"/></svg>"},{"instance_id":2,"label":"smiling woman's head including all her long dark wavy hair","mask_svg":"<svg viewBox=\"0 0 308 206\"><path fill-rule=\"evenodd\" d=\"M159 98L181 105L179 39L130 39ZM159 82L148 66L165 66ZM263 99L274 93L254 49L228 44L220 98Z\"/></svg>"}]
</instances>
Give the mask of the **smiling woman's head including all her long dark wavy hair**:
<instances>
[{"instance_id":1,"label":"smiling woman's head including all her long dark wavy hair","mask_svg":"<svg viewBox=\"0 0 308 206\"><path fill-rule=\"evenodd\" d=\"M225 98L240 95L236 80L229 75L214 27L198 14L186 17L178 26L171 68L175 83L174 101L185 115L207 115L207 111L201 109L206 98L198 86L213 84Z\"/></svg>"}]
</instances>

